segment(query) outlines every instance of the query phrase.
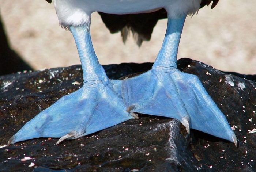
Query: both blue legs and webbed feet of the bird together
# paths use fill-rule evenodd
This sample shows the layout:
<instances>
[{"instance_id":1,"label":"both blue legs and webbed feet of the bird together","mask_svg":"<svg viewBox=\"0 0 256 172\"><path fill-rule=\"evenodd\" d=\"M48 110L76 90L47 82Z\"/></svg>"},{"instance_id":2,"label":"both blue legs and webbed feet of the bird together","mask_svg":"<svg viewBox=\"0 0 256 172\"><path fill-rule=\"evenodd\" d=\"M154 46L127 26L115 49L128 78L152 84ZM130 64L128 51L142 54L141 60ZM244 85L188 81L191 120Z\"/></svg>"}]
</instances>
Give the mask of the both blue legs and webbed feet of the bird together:
<instances>
[{"instance_id":1,"label":"both blue legs and webbed feet of the bird together","mask_svg":"<svg viewBox=\"0 0 256 172\"><path fill-rule=\"evenodd\" d=\"M167 31L152 69L123 81L109 80L91 43L89 25L69 26L83 69L83 87L63 96L27 122L8 141L38 138L76 139L128 119L134 112L177 118L189 129L227 139L237 138L225 116L197 76L177 69L177 52L185 16L168 18Z\"/></svg>"}]
</instances>

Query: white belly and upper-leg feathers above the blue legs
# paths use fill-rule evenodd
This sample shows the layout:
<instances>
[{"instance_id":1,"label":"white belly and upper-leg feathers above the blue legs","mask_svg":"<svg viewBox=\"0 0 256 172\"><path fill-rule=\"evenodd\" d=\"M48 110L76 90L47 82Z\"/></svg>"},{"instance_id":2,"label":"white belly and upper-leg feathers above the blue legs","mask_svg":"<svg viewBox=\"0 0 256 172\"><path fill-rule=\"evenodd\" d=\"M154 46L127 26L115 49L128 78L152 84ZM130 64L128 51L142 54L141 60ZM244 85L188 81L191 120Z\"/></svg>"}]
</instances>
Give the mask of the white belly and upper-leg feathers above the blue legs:
<instances>
[{"instance_id":1,"label":"white belly and upper-leg feathers above the blue legs","mask_svg":"<svg viewBox=\"0 0 256 172\"><path fill-rule=\"evenodd\" d=\"M131 14L165 8L170 18L195 14L201 0L53 0L62 26L90 22L92 12Z\"/></svg>"}]
</instances>

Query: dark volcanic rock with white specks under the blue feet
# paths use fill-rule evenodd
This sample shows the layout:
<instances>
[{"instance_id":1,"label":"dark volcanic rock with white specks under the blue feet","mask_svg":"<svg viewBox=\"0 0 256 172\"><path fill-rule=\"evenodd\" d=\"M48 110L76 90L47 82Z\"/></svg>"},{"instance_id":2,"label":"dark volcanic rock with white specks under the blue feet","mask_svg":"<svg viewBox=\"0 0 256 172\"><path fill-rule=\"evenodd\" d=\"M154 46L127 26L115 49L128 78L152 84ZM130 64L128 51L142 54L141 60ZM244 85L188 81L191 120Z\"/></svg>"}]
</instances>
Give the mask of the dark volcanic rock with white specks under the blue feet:
<instances>
[{"instance_id":1,"label":"dark volcanic rock with white specks under the blue feet","mask_svg":"<svg viewBox=\"0 0 256 172\"><path fill-rule=\"evenodd\" d=\"M151 65L104 68L117 79ZM27 121L82 86L76 65L0 76L0 171L255 171L256 84L190 59L179 60L178 68L199 76L234 126L237 148L196 130L187 135L177 119L150 115L59 145L57 139L38 138L4 147Z\"/></svg>"}]
</instances>

